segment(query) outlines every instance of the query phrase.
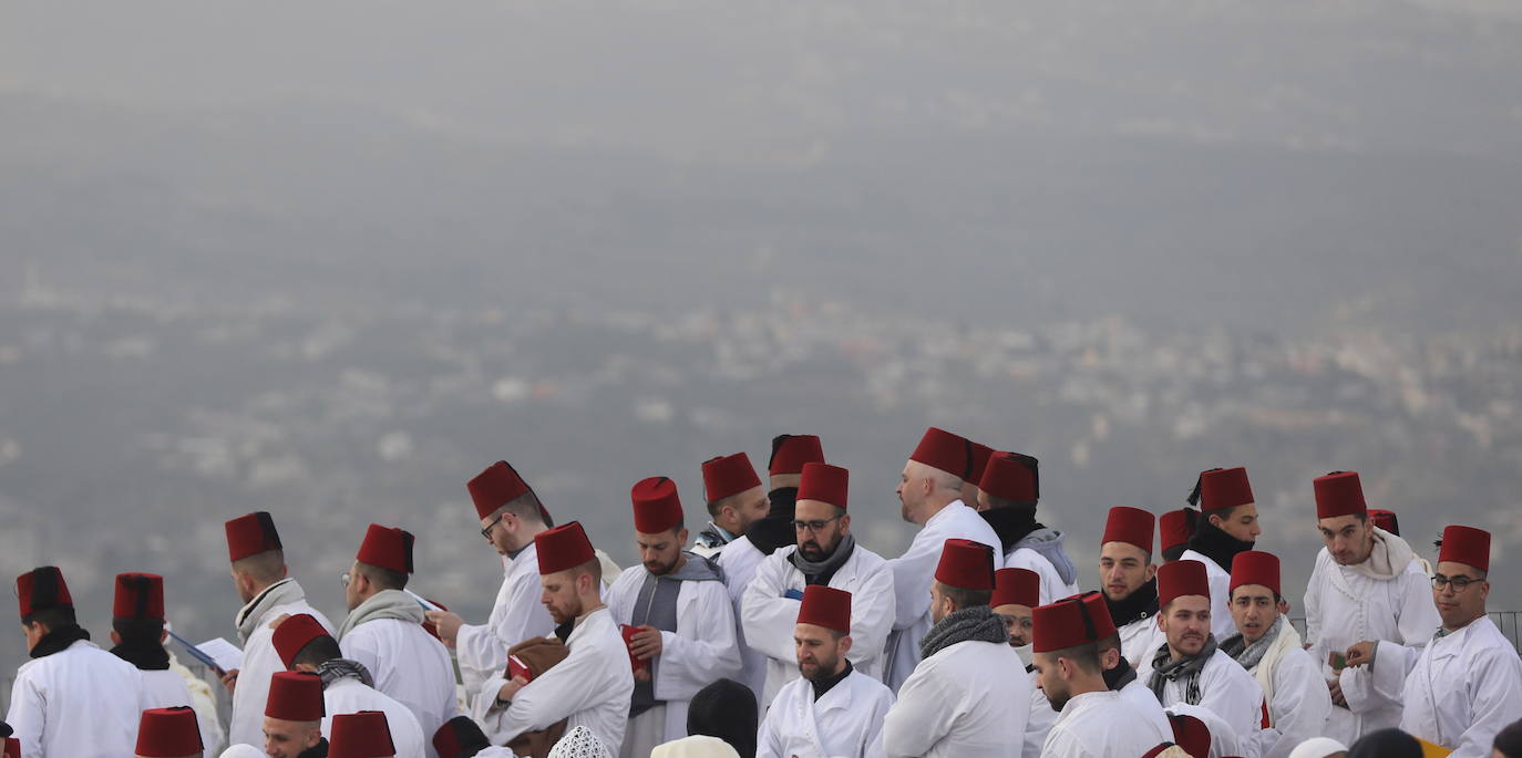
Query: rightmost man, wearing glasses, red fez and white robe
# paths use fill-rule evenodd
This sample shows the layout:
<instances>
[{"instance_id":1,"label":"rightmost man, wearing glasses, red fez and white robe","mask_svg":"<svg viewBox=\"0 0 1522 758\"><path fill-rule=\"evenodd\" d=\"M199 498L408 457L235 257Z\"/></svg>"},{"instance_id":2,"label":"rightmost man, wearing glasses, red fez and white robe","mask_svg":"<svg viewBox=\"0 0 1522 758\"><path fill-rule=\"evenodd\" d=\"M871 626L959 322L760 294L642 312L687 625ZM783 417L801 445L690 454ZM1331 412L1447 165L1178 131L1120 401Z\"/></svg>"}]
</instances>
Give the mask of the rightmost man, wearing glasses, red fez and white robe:
<instances>
[{"instance_id":1,"label":"rightmost man, wearing glasses, red fez and white robe","mask_svg":"<svg viewBox=\"0 0 1522 758\"><path fill-rule=\"evenodd\" d=\"M1422 652L1382 641L1348 655L1370 668L1377 696L1403 706L1400 729L1446 747L1454 758L1485 758L1496 734L1522 717L1522 659L1485 615L1490 533L1443 530L1432 600L1443 626Z\"/></svg>"}]
</instances>

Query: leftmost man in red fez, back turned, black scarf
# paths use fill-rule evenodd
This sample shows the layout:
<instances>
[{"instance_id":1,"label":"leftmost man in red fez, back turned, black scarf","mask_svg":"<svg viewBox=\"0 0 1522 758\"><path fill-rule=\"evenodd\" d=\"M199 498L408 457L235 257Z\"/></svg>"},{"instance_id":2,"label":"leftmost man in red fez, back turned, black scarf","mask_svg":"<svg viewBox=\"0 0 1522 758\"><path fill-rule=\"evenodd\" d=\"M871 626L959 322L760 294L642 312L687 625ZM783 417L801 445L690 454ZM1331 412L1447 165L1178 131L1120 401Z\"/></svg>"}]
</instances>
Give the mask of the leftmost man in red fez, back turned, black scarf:
<instances>
[{"instance_id":1,"label":"leftmost man in red fez, back turned, black scarf","mask_svg":"<svg viewBox=\"0 0 1522 758\"><path fill-rule=\"evenodd\" d=\"M90 641L56 567L15 577L15 595L30 661L15 671L5 720L26 756L132 755L142 671Z\"/></svg>"}]
</instances>

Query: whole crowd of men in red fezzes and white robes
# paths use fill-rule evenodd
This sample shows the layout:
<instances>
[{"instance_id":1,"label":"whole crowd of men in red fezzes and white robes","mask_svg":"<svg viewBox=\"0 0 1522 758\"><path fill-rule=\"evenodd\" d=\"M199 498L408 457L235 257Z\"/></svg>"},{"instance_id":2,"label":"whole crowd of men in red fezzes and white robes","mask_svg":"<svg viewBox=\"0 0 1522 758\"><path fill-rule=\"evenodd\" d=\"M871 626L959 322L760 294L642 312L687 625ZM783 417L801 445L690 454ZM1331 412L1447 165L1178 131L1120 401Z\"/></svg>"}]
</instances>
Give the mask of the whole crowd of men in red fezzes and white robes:
<instances>
[{"instance_id":1,"label":"whole crowd of men in red fezzes and white robes","mask_svg":"<svg viewBox=\"0 0 1522 758\"><path fill-rule=\"evenodd\" d=\"M766 485L744 453L702 474L696 542L673 480L633 486L639 565L618 570L489 466L467 483L502 565L481 624L408 591L412 535L377 524L333 624L272 516L233 518L225 728L164 647L163 577L116 577L102 650L62 573L29 571L5 756L1519 755L1490 535L1449 526L1429 562L1356 472L1310 488L1324 547L1304 638L1278 557L1253 550L1243 468L1201 472L1193 507L1110 509L1091 591L1036 521L1030 456L925 431L898 486L918 533L893 557L857 542L849 472L814 436L776 437Z\"/></svg>"}]
</instances>

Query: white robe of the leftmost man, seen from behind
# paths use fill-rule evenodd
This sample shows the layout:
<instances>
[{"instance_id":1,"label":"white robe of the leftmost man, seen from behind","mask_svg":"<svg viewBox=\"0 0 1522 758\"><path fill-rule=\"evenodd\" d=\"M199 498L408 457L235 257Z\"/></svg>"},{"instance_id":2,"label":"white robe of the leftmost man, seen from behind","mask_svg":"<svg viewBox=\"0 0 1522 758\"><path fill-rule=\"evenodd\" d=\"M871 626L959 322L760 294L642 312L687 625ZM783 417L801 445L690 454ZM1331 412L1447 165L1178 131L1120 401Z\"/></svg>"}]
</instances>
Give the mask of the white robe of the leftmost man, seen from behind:
<instances>
[{"instance_id":1,"label":"white robe of the leftmost man, seen from behind","mask_svg":"<svg viewBox=\"0 0 1522 758\"><path fill-rule=\"evenodd\" d=\"M88 640L21 664L5 720L21 758L122 758L137 747L143 674Z\"/></svg>"}]
</instances>

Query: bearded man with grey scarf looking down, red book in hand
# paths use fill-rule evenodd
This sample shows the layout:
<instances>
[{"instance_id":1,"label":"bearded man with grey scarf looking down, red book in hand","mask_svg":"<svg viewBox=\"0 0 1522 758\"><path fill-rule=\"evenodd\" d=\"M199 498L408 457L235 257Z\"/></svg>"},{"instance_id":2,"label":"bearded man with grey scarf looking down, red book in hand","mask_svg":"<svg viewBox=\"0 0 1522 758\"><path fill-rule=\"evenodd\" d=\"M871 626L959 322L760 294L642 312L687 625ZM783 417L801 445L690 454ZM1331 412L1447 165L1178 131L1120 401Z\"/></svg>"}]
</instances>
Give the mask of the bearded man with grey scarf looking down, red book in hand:
<instances>
[{"instance_id":1,"label":"bearded man with grey scarf looking down, red book in hand","mask_svg":"<svg viewBox=\"0 0 1522 758\"><path fill-rule=\"evenodd\" d=\"M686 737L686 705L699 690L740 673L735 615L723 571L683 550L682 501L676 482L641 480L630 491L638 567L607 589L613 620L636 630L629 652L645 665L635 673L624 758Z\"/></svg>"}]
</instances>

